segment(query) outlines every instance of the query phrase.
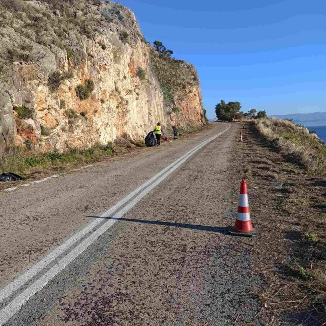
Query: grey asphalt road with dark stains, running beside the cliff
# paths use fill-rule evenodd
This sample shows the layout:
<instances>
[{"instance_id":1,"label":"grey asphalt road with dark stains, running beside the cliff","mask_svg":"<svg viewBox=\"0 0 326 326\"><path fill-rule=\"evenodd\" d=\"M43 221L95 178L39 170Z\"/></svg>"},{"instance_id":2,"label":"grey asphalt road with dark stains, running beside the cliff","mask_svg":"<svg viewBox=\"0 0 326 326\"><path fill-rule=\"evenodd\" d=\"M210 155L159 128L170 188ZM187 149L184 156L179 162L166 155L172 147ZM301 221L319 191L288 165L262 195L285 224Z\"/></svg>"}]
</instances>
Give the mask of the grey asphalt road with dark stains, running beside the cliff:
<instances>
[{"instance_id":1,"label":"grey asphalt road with dark stains, running beside the cliff","mask_svg":"<svg viewBox=\"0 0 326 326\"><path fill-rule=\"evenodd\" d=\"M1 192L0 325L261 325L228 128Z\"/></svg>"}]
</instances>

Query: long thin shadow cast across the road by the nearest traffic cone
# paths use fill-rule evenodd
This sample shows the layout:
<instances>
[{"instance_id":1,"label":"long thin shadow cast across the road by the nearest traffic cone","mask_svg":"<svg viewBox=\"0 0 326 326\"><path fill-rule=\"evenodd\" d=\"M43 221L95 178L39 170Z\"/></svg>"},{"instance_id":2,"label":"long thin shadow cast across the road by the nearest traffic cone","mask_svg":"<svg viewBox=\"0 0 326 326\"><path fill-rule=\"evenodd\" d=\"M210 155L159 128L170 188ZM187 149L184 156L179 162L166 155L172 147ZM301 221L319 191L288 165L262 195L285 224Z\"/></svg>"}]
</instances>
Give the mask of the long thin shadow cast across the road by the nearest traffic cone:
<instances>
[{"instance_id":1,"label":"long thin shadow cast across the road by the nearest traffic cone","mask_svg":"<svg viewBox=\"0 0 326 326\"><path fill-rule=\"evenodd\" d=\"M202 230L202 231L210 231L227 234L230 230L230 227L210 227L207 225L198 225L198 224L188 224L188 223L174 223L174 222L165 222L165 221L154 221L154 220L140 220L140 219L128 219L123 217L101 217L101 216L87 216L98 219L107 219L107 220L119 220L119 221L127 221L127 222L137 222L137 223L145 223L145 224L156 224L162 225L165 227L178 227L178 228L186 228L192 230Z\"/></svg>"}]
</instances>

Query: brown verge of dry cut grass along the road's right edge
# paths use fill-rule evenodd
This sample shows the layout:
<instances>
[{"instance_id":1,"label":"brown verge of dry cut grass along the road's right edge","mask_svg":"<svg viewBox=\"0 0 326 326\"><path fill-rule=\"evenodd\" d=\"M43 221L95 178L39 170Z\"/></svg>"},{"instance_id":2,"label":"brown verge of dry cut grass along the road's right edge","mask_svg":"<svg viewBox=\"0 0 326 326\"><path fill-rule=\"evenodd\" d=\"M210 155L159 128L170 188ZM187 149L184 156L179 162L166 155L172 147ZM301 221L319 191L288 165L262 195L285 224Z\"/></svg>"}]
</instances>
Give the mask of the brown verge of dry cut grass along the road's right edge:
<instances>
[{"instance_id":1,"label":"brown verge of dry cut grass along the road's right edge","mask_svg":"<svg viewBox=\"0 0 326 326\"><path fill-rule=\"evenodd\" d=\"M259 122L246 126L238 152L260 232L252 249L253 274L266 283L257 293L263 303L259 317L266 325L326 325L326 183L314 162L319 145L315 151L305 147L312 140L297 138L303 133L288 135L286 141L294 137L300 143L288 160L289 145L280 138L289 133L287 126L271 124L267 128L278 136L268 137Z\"/></svg>"}]
</instances>

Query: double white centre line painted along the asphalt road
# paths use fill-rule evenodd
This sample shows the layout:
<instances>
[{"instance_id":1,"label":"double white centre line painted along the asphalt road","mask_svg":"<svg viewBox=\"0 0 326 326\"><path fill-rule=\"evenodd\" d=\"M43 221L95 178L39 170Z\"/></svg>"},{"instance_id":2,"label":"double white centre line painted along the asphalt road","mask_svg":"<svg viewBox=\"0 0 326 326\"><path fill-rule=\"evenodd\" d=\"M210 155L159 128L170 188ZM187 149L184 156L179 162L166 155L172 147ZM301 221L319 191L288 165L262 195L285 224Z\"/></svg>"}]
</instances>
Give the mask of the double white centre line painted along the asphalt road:
<instances>
[{"instance_id":1,"label":"double white centre line painted along the asphalt road","mask_svg":"<svg viewBox=\"0 0 326 326\"><path fill-rule=\"evenodd\" d=\"M122 217L126 214L132 207L134 207L149 191L151 191L154 187L156 187L159 183L161 183L167 176L169 176L173 171L175 171L181 164L183 164L190 156L192 156L199 149L204 147L207 143L219 137L227 130L231 128L229 127L220 132L219 134L213 136L209 140L206 140L194 147L192 150L187 152L185 155L177 159L175 162L167 166L153 178L145 182L143 185L138 187L136 190L131 192L128 196L122 199L119 203L112 206L108 209L101 217L110 217L114 212L116 212L120 207L124 204L128 203L135 195L137 195L134 199L132 199L128 204L126 204L120 211L114 214L115 217ZM91 233L85 240L83 240L76 248L70 251L66 256L64 256L58 263L56 263L51 269L49 269L43 276L41 276L37 281L35 281L32 285L30 285L26 290L24 290L21 294L19 294L14 300L12 300L7 306L0 310L0 325L6 323L16 312L18 312L22 305L35 293L40 291L56 274L62 271L68 264L70 264L79 254L81 254L86 248L88 248L95 240L98 239L105 231L107 231L117 220L109 220L105 222L100 228ZM14 293L19 287L24 285L28 280L33 278L38 272L40 272L43 268L45 268L50 262L52 262L55 258L57 258L60 254L62 254L65 250L71 247L74 243L80 240L85 234L91 231L95 226L102 222L102 219L96 219L91 224L86 226L80 232L73 235L66 242L61 244L59 247L54 249L51 253L49 253L45 258L43 258L40 262L34 265L31 269L27 270L23 275L19 278L13 280L9 283L3 290L0 292L0 302L5 298Z\"/></svg>"}]
</instances>

